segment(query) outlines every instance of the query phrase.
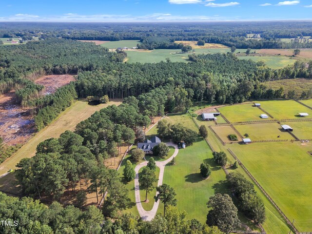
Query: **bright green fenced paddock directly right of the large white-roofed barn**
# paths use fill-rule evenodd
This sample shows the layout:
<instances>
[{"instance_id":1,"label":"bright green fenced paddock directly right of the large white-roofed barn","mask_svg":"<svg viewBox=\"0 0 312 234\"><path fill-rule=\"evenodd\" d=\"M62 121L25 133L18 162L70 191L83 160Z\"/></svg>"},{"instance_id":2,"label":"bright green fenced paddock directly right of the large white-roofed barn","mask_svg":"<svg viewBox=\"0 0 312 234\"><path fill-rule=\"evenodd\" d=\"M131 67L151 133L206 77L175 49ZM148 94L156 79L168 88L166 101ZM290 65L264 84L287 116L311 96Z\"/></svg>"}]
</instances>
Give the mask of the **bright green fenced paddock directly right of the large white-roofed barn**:
<instances>
[{"instance_id":1,"label":"bright green fenced paddock directly right of the large white-roofed barn","mask_svg":"<svg viewBox=\"0 0 312 234\"><path fill-rule=\"evenodd\" d=\"M218 108L231 123L261 120L260 115L264 114L259 108L254 107L253 103L224 106Z\"/></svg>"}]
</instances>

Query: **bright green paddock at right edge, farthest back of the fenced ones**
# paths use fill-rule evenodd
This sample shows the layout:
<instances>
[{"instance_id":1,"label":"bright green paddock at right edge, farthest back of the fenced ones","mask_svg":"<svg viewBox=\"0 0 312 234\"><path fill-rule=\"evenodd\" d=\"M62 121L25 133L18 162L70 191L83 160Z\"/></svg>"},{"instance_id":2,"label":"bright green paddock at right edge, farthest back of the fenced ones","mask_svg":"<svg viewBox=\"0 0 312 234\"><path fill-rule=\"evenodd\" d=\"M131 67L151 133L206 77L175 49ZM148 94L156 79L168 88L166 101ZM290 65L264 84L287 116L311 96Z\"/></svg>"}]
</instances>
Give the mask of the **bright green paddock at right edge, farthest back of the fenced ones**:
<instances>
[{"instance_id":1,"label":"bright green paddock at right edge, farthest back of the fenced ones","mask_svg":"<svg viewBox=\"0 0 312 234\"><path fill-rule=\"evenodd\" d=\"M294 100L259 101L262 109L269 112L275 119L300 118L298 113L312 115L312 110Z\"/></svg>"}]
</instances>

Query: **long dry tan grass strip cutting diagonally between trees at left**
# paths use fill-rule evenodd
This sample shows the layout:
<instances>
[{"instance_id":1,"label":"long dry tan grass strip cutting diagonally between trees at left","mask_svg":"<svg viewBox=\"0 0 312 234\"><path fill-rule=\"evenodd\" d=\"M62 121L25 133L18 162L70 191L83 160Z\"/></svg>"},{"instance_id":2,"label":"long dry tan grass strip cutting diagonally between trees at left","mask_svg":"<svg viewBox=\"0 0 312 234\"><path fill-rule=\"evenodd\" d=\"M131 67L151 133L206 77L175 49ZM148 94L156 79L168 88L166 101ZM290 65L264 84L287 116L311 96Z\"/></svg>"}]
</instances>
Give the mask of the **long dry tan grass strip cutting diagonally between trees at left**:
<instances>
[{"instance_id":1,"label":"long dry tan grass strip cutting diagonally between trees at left","mask_svg":"<svg viewBox=\"0 0 312 234\"><path fill-rule=\"evenodd\" d=\"M88 105L85 100L75 101L70 107L62 112L50 125L42 129L34 137L30 138L13 156L7 158L0 165L0 176L9 169L16 169L16 164L23 157L32 157L36 154L36 147L41 142L51 137L59 137L66 130L74 131L76 125L87 119L96 111L110 105L119 105L121 100L111 100L106 104L96 106Z\"/></svg>"}]
</instances>

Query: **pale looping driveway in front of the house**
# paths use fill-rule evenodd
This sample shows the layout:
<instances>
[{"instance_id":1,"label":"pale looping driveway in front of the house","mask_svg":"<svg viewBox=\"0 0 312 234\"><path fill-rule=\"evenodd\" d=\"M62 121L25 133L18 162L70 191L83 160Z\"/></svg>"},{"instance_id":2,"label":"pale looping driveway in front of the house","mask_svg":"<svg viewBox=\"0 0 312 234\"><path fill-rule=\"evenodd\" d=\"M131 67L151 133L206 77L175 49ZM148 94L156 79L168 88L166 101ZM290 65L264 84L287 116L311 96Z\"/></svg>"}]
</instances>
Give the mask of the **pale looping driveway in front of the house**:
<instances>
[{"instance_id":1,"label":"pale looping driveway in front of the house","mask_svg":"<svg viewBox=\"0 0 312 234\"><path fill-rule=\"evenodd\" d=\"M164 170L165 170L165 166L168 162L170 162L178 153L178 148L176 146L176 144L174 144L173 142L169 142L167 143L168 146L173 146L175 147L175 152L173 154L173 156L171 156L170 158L168 158L165 161L156 161L156 166L159 167L160 171L159 171L159 178L158 178L158 184L157 186L162 185L162 180L164 177ZM141 218L143 220L147 220L150 221L152 220L157 212L158 206L159 206L159 201L154 202L154 206L153 209L151 211L145 211L142 207L141 204L141 198L140 198L140 188L139 188L139 183L138 183L138 172L142 167L147 166L147 161L142 162L140 164L138 164L135 168L136 171L136 178L135 178L135 194L136 194L136 203L137 203L137 210L139 215L141 216ZM156 193L157 195L158 193Z\"/></svg>"}]
</instances>

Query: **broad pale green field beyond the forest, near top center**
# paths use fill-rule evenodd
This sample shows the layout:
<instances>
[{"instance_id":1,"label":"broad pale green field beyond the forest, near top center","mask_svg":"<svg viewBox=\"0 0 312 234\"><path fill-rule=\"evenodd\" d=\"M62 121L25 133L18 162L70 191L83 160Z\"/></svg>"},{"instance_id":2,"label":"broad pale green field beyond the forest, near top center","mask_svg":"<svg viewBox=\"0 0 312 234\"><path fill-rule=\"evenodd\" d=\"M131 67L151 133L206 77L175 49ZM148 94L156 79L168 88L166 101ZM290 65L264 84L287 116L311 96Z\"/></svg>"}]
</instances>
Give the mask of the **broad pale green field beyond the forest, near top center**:
<instances>
[{"instance_id":1,"label":"broad pale green field beyond the forest, near top center","mask_svg":"<svg viewBox=\"0 0 312 234\"><path fill-rule=\"evenodd\" d=\"M169 58L172 62L188 62L187 53L181 53L181 50L132 50L126 51L128 57L127 62L141 62L141 63L154 63L166 61Z\"/></svg>"}]
</instances>

